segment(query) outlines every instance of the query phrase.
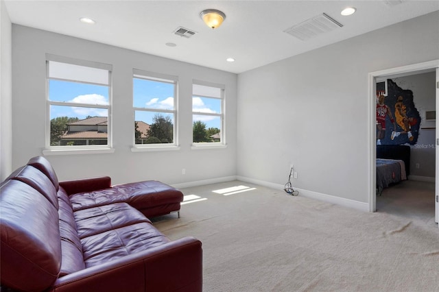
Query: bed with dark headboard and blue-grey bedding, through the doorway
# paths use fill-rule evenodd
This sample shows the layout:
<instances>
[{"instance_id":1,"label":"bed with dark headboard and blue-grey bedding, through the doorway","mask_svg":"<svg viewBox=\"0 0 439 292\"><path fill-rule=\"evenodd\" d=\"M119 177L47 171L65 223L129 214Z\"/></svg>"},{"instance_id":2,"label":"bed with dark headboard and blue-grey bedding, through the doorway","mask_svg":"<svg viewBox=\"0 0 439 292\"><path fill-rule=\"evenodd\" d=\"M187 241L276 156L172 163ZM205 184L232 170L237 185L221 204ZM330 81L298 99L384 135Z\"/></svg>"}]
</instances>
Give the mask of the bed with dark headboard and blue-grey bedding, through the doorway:
<instances>
[{"instance_id":1,"label":"bed with dark headboard and blue-grey bedding, through the doorway","mask_svg":"<svg viewBox=\"0 0 439 292\"><path fill-rule=\"evenodd\" d=\"M377 145L377 195L384 188L407 180L410 174L410 146Z\"/></svg>"}]
</instances>

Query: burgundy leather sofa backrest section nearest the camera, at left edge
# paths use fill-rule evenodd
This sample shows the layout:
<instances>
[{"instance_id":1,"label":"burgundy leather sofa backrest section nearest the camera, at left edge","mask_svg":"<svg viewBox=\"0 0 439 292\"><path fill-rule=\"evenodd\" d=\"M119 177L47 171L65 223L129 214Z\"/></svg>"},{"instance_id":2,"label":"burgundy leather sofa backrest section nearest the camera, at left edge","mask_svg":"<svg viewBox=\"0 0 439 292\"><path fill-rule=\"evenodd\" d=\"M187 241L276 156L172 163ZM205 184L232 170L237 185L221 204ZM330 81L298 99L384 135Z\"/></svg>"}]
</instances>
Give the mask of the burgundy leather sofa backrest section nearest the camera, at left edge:
<instances>
[{"instance_id":1,"label":"burgundy leather sofa backrest section nearest the camera, at left edge","mask_svg":"<svg viewBox=\"0 0 439 292\"><path fill-rule=\"evenodd\" d=\"M0 186L0 280L5 287L41 291L60 273L58 209L21 180Z\"/></svg>"}]
</instances>

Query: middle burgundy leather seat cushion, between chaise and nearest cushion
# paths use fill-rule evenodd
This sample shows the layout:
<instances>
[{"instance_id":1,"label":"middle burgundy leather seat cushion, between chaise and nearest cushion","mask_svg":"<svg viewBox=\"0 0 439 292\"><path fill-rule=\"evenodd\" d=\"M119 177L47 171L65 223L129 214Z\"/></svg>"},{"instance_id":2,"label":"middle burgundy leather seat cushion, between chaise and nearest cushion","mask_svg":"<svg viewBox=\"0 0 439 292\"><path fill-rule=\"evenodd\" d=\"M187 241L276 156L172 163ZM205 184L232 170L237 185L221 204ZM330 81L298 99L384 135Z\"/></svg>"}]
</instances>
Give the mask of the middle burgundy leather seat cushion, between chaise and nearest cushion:
<instances>
[{"instance_id":1,"label":"middle burgundy leather seat cushion, between chaise and nearest cushion","mask_svg":"<svg viewBox=\"0 0 439 292\"><path fill-rule=\"evenodd\" d=\"M135 223L151 223L126 203L115 203L74 212L80 239Z\"/></svg>"}]
</instances>

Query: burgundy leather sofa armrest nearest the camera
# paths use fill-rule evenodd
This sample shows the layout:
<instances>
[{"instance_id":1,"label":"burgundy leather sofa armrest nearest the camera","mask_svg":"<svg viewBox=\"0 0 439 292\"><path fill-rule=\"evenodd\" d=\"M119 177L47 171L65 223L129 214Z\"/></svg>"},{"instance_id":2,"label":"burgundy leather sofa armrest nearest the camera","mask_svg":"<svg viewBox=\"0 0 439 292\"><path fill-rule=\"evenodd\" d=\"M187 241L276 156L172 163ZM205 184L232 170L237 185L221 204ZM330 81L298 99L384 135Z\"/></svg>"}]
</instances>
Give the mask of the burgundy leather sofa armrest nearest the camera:
<instances>
[{"instance_id":1,"label":"burgundy leather sofa armrest nearest the camera","mask_svg":"<svg viewBox=\"0 0 439 292\"><path fill-rule=\"evenodd\" d=\"M202 243L171 241L58 278L50 291L202 291Z\"/></svg>"}]
</instances>

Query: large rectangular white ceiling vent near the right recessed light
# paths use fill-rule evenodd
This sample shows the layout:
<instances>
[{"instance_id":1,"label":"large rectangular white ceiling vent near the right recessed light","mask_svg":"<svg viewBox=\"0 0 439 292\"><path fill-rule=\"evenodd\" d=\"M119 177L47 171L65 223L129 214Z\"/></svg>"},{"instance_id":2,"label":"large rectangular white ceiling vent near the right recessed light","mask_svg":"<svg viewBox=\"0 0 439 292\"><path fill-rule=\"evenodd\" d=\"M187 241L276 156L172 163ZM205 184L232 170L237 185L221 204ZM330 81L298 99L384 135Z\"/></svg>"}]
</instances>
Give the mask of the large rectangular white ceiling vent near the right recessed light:
<instances>
[{"instance_id":1,"label":"large rectangular white ceiling vent near the right recessed light","mask_svg":"<svg viewBox=\"0 0 439 292\"><path fill-rule=\"evenodd\" d=\"M331 32L331 30L343 27L343 25L327 14L320 14L311 19L307 19L298 25L285 29L284 32L295 36L299 40L308 40L314 38L320 34Z\"/></svg>"}]
</instances>

